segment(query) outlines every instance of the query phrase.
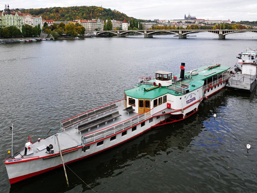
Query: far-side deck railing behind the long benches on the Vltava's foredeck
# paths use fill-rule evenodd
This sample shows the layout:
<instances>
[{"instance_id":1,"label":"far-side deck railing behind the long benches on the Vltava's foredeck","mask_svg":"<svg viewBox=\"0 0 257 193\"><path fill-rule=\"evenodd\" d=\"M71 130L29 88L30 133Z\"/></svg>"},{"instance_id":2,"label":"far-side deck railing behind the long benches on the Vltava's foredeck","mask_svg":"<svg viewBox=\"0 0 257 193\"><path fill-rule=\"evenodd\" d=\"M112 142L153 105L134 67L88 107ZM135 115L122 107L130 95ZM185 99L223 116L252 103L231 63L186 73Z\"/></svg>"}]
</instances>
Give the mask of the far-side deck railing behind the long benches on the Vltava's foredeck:
<instances>
[{"instance_id":1,"label":"far-side deck railing behind the long benches on the Vltava's foredeck","mask_svg":"<svg viewBox=\"0 0 257 193\"><path fill-rule=\"evenodd\" d=\"M83 124L85 121L89 121L91 119L98 117L99 115L104 115L106 113L112 112L116 108L121 106L124 106L124 99L118 100L116 102L106 104L105 106L79 114L75 117L62 121L60 124L61 130L65 131L65 129L69 127L76 128L78 125Z\"/></svg>"}]
</instances>

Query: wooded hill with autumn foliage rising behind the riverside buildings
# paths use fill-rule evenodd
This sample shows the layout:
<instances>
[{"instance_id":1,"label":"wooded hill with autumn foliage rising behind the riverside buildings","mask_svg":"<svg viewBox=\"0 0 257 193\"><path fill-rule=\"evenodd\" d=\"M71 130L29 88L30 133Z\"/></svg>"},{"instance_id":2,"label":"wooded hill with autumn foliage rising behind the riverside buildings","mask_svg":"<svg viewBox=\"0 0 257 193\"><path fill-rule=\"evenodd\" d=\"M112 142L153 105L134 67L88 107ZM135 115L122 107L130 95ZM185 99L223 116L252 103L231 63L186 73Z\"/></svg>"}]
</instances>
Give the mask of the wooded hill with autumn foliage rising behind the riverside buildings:
<instances>
[{"instance_id":1,"label":"wooded hill with autumn foliage rising behind the riverside buildings","mask_svg":"<svg viewBox=\"0 0 257 193\"><path fill-rule=\"evenodd\" d=\"M111 20L127 21L134 19L117 10L106 9L97 6L74 6L74 7L50 7L40 9L16 9L22 13L30 13L31 15L42 16L42 19L53 21L72 21L72 20L91 20L101 19L107 20L110 16Z\"/></svg>"}]
</instances>

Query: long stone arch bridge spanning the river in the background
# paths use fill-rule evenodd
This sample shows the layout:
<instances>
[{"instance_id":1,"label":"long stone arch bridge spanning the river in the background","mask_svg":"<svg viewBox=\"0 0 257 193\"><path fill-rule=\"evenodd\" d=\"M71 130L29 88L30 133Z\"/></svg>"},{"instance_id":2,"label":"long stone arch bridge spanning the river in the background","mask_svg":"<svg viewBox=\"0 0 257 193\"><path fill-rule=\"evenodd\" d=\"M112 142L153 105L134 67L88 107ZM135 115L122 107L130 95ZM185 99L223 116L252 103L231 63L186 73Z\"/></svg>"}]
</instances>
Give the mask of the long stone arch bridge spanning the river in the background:
<instances>
[{"instance_id":1,"label":"long stone arch bridge spanning the river in the background","mask_svg":"<svg viewBox=\"0 0 257 193\"><path fill-rule=\"evenodd\" d=\"M105 33L114 33L117 37L125 37L128 33L139 33L144 35L144 38L153 38L154 35L161 33L171 33L178 36L179 39L186 39L190 33L210 32L218 34L218 39L225 39L225 36L230 33L255 32L257 29L164 29L164 30L111 30L111 31L94 31L97 35ZM89 32L93 33L93 31Z\"/></svg>"}]
</instances>

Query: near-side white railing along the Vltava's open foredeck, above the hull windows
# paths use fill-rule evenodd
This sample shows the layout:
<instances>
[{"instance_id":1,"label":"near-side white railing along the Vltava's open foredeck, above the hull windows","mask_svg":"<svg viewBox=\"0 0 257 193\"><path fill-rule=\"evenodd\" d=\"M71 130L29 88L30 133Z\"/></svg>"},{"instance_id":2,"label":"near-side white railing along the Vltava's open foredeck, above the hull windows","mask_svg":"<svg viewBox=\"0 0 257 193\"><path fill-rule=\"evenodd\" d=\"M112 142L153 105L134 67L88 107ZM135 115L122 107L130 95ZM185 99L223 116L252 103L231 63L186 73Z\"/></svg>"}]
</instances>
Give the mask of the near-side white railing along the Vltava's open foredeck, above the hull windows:
<instances>
[{"instance_id":1,"label":"near-side white railing along the Vltava's open foredeck, above the hull windows","mask_svg":"<svg viewBox=\"0 0 257 193\"><path fill-rule=\"evenodd\" d=\"M86 141L86 144L95 142L98 139L105 138L106 136L115 134L117 132L120 132L130 127L133 127L134 125L137 125L139 122L142 122L143 120L146 120L150 117L151 115L149 115L148 112L145 112L144 114L137 115L135 117L122 121L119 124L116 124L114 126L107 127L105 129L96 131L94 133L83 135L83 142L84 140Z\"/></svg>"}]
</instances>

